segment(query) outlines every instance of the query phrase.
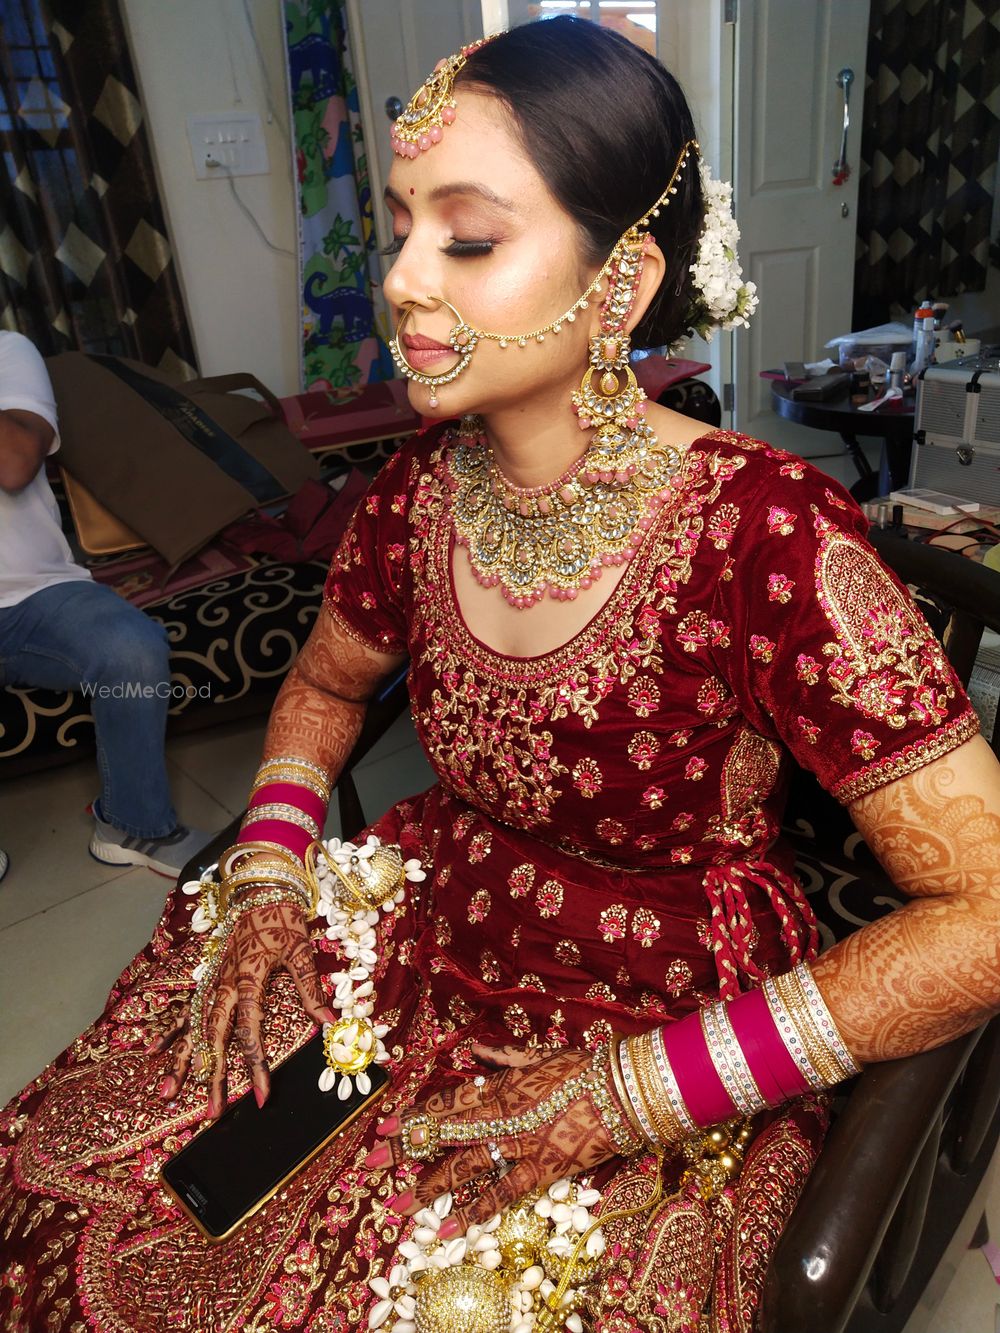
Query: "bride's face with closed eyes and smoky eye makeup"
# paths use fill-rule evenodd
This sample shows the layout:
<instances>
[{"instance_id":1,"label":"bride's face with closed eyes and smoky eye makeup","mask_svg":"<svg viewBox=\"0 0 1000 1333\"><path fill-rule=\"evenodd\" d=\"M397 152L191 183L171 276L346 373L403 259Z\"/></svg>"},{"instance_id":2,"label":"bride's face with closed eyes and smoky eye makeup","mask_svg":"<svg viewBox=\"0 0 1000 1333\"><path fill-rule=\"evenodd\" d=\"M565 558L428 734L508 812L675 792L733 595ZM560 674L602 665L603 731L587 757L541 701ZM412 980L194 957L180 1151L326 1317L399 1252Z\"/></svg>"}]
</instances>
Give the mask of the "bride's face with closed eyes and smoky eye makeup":
<instances>
[{"instance_id":1,"label":"bride's face with closed eyes and smoky eye makeup","mask_svg":"<svg viewBox=\"0 0 1000 1333\"><path fill-rule=\"evenodd\" d=\"M495 97L456 91L457 116L441 141L415 159L395 159L385 192L399 247L385 279L393 328L415 369L441 375L457 364L447 347L455 324L444 297L468 324L527 333L564 315L593 280L573 219L527 156ZM603 284L601 292L607 284ZM437 389L409 384L413 407L431 417L527 408L537 395L565 395L587 365L600 297L559 335L525 348L480 341L471 364ZM445 344L443 349L421 343ZM431 395L439 407L431 408Z\"/></svg>"}]
</instances>

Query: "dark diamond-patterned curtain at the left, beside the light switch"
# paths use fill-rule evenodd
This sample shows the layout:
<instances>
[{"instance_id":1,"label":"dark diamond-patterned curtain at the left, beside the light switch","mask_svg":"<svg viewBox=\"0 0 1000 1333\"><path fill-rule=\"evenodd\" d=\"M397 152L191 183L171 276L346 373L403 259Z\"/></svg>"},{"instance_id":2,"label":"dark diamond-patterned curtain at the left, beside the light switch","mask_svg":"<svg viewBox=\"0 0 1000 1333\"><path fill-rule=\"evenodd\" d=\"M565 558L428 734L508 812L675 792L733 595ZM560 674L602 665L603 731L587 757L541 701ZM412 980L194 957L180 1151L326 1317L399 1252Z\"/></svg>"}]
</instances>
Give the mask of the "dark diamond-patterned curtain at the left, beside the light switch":
<instances>
[{"instance_id":1,"label":"dark diamond-patterned curtain at the left, beside the light switch","mask_svg":"<svg viewBox=\"0 0 1000 1333\"><path fill-rule=\"evenodd\" d=\"M0 0L0 327L193 376L117 0Z\"/></svg>"}]
</instances>

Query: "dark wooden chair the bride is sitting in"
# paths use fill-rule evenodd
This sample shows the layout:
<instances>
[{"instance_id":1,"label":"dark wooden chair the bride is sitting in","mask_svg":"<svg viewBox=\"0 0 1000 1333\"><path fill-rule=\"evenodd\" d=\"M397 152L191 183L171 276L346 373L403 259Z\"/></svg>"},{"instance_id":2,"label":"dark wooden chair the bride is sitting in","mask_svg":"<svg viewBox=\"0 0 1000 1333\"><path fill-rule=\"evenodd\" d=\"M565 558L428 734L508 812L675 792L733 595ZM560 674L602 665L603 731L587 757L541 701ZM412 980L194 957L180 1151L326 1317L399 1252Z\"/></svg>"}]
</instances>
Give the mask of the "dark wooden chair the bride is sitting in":
<instances>
[{"instance_id":1,"label":"dark wooden chair the bride is sitting in","mask_svg":"<svg viewBox=\"0 0 1000 1333\"><path fill-rule=\"evenodd\" d=\"M1000 631L1000 576L897 536L875 532L873 543L968 681L984 628ZM996 750L996 728L988 738ZM899 893L856 845L841 808L800 777L785 832L817 916L843 934L833 897L847 894L852 913L875 917ZM761 1333L900 1333L935 1272L945 1272L943 1260L987 1240L983 1196L999 1137L1000 1018L937 1050L865 1069L839 1105L777 1246Z\"/></svg>"}]
</instances>

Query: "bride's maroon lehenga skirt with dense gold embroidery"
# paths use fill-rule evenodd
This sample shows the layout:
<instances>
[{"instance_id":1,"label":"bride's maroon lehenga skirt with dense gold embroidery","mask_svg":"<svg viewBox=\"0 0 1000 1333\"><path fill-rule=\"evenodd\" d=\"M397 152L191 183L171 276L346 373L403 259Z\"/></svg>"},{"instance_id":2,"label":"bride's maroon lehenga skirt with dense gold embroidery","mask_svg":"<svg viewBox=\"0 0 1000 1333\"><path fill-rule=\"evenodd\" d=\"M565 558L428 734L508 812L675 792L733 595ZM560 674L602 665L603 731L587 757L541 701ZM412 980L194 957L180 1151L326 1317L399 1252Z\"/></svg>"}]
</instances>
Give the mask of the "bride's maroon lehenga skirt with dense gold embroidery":
<instances>
[{"instance_id":1,"label":"bride's maroon lehenga skirt with dense gold embroidery","mask_svg":"<svg viewBox=\"0 0 1000 1333\"><path fill-rule=\"evenodd\" d=\"M460 910L449 898L447 866L456 860L456 840L475 837L480 821L479 833L492 840L492 873L520 882L524 848L508 846L481 816L456 820L453 802L437 788L376 826L383 838L401 841L405 854L435 866L423 893L385 924L377 998L392 1024L393 1084L379 1117L405 1106L428 1084L469 1077L472 1038L509 1041L516 1029L536 1044L592 1042L612 1025L637 1028L653 1013L668 1016L664 1001L639 989L641 976L631 993L619 985L613 1001L609 985L596 992L591 985L588 998L573 994L564 978L567 993L553 1022L552 993L543 989L553 978L552 953L537 952L532 985L507 985L520 932L503 920L489 933L485 977L481 958L469 960L469 970L463 966L455 940L461 942L469 928L468 896ZM619 898L620 888L615 885ZM592 885L573 892L587 904ZM520 898L504 894L503 905L516 916ZM100 1018L0 1117L4 1333L340 1333L368 1326L375 1302L368 1280L392 1266L412 1225L387 1206L408 1184L408 1172L364 1165L375 1112L223 1244L207 1242L159 1184L160 1166L197 1132L203 1110L201 1093L191 1084L175 1104L164 1104L156 1085L169 1057L144 1054L191 989L199 953L199 938L188 930L191 909L191 897L169 896L152 942L119 977ZM669 932L663 906L657 914ZM319 928L316 945L323 969L333 970L337 958ZM711 986L708 973L701 980ZM541 1012L547 1033L536 1029ZM311 1033L291 982L277 974L265 1028L272 1061ZM247 1088L236 1060L229 1088L231 1094ZM740 1177L715 1200L707 1204L688 1188L661 1205L652 1222L617 1226L592 1288L588 1326L601 1333L752 1329L768 1257L823 1128L820 1108L789 1109L757 1134ZM605 1206L648 1197L651 1161L605 1169ZM683 1166L668 1164L667 1194Z\"/></svg>"}]
</instances>

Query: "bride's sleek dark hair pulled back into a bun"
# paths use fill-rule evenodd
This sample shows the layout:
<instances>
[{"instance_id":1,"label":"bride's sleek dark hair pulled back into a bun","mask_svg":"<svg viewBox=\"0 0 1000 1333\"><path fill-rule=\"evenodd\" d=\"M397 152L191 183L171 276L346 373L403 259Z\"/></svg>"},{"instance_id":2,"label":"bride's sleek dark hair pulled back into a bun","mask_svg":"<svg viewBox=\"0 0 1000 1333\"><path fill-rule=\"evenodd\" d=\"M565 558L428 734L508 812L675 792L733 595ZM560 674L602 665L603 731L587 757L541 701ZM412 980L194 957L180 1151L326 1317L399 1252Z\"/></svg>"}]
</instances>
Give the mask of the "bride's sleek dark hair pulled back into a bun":
<instances>
[{"instance_id":1,"label":"bride's sleek dark hair pulled back into a bun","mask_svg":"<svg viewBox=\"0 0 1000 1333\"><path fill-rule=\"evenodd\" d=\"M560 16L512 28L480 47L457 83L501 99L549 189L576 219L587 260L600 264L667 188L695 137L677 80L627 37ZM660 291L632 335L661 347L688 332L691 281L704 220L696 155L649 231L667 259Z\"/></svg>"}]
</instances>

